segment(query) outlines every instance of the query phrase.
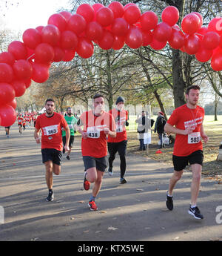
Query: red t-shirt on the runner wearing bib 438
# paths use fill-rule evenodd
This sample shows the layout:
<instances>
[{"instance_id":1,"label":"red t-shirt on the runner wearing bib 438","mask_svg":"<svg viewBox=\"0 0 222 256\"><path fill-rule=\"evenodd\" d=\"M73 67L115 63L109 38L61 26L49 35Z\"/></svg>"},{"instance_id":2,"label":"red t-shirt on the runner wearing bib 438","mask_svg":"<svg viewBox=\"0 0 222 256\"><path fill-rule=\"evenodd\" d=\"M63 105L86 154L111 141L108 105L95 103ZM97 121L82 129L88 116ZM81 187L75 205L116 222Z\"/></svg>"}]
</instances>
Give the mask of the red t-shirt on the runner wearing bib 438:
<instances>
[{"instance_id":1,"label":"red t-shirt on the runner wearing bib 438","mask_svg":"<svg viewBox=\"0 0 222 256\"><path fill-rule=\"evenodd\" d=\"M81 152L83 156L101 158L107 156L107 135L104 128L115 131L115 120L112 114L104 113L95 116L93 111L87 111L80 116L84 125L83 131L87 132L87 139L81 140Z\"/></svg>"}]
</instances>

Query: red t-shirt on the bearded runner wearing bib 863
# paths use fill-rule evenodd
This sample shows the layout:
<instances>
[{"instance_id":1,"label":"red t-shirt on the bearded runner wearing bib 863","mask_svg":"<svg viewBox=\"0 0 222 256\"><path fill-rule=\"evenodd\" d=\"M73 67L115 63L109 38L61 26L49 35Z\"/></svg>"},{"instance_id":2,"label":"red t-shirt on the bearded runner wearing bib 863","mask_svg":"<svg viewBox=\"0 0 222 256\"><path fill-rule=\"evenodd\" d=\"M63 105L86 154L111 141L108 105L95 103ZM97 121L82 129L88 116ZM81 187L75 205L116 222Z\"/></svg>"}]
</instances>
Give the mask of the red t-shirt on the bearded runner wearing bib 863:
<instances>
[{"instance_id":1,"label":"red t-shirt on the bearded runner wearing bib 863","mask_svg":"<svg viewBox=\"0 0 222 256\"><path fill-rule=\"evenodd\" d=\"M41 148L62 150L61 128L67 127L64 116L54 112L53 116L41 114L36 119L36 129L41 128Z\"/></svg>"}]
</instances>

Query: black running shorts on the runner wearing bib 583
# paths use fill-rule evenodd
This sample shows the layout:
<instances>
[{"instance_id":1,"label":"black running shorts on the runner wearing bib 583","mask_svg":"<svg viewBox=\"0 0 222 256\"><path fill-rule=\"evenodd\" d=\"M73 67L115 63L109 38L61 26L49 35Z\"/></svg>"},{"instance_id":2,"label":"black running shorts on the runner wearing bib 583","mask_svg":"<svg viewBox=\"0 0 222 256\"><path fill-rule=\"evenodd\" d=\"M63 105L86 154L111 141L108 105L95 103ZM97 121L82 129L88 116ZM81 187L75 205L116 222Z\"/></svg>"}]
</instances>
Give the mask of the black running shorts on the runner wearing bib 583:
<instances>
[{"instance_id":1,"label":"black running shorts on the runner wearing bib 583","mask_svg":"<svg viewBox=\"0 0 222 256\"><path fill-rule=\"evenodd\" d=\"M192 165L195 163L203 165L203 151L194 151L192 154L189 154L189 156L186 157L177 157L172 155L172 163L175 171L182 171L186 165Z\"/></svg>"}]
</instances>

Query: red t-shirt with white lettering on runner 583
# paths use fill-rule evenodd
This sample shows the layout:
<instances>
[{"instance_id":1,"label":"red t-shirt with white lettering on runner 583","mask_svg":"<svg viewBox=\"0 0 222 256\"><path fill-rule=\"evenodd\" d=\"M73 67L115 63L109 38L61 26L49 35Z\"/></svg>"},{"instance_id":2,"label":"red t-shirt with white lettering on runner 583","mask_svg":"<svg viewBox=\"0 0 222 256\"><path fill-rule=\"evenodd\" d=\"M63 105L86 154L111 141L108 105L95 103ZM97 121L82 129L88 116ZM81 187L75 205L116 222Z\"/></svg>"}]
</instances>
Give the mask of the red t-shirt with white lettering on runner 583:
<instances>
[{"instance_id":1,"label":"red t-shirt with white lettering on runner 583","mask_svg":"<svg viewBox=\"0 0 222 256\"><path fill-rule=\"evenodd\" d=\"M178 157L186 157L192 152L203 150L201 142L201 125L203 123L204 109L197 106L195 109L188 108L186 104L176 108L168 119L169 125L185 130L191 127L193 132L188 135L176 134L173 153Z\"/></svg>"}]
</instances>

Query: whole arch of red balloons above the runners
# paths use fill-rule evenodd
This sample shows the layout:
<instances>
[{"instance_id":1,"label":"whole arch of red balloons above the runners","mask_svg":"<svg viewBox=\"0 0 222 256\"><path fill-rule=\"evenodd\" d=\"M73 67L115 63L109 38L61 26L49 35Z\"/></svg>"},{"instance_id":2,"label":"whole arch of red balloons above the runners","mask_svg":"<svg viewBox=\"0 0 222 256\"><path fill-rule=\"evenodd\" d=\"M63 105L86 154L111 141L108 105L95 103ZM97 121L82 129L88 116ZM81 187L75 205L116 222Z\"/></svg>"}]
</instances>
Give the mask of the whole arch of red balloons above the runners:
<instances>
[{"instance_id":1,"label":"whole arch of red balloons above the runners","mask_svg":"<svg viewBox=\"0 0 222 256\"><path fill-rule=\"evenodd\" d=\"M75 14L55 13L46 26L29 28L23 42L13 41L0 53L0 125L16 121L16 98L22 96L31 81L46 82L53 62L70 62L75 53L90 58L94 46L119 50L124 44L132 49L150 46L161 50L169 43L173 49L194 55L199 62L210 60L212 69L222 70L222 18L214 18L202 27L200 13L184 16L181 28L176 24L179 12L168 6L158 16L147 11L141 14L136 4L123 6L112 1L103 4L81 4Z\"/></svg>"}]
</instances>

